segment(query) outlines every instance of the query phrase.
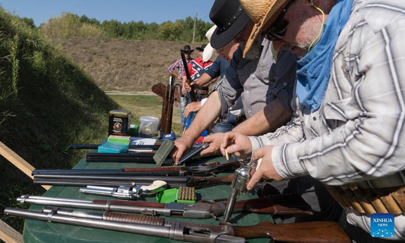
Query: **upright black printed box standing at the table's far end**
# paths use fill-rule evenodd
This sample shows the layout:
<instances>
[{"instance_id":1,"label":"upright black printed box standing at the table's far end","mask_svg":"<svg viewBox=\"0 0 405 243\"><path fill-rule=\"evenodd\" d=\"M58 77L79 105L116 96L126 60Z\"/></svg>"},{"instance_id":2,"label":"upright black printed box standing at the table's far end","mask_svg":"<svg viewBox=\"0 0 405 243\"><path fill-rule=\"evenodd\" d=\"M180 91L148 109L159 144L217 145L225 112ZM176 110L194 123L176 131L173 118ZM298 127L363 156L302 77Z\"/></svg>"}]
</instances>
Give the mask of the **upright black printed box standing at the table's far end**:
<instances>
[{"instance_id":1,"label":"upright black printed box standing at the table's far end","mask_svg":"<svg viewBox=\"0 0 405 243\"><path fill-rule=\"evenodd\" d=\"M109 116L108 136L129 136L131 124L131 111L111 110Z\"/></svg>"}]
</instances>

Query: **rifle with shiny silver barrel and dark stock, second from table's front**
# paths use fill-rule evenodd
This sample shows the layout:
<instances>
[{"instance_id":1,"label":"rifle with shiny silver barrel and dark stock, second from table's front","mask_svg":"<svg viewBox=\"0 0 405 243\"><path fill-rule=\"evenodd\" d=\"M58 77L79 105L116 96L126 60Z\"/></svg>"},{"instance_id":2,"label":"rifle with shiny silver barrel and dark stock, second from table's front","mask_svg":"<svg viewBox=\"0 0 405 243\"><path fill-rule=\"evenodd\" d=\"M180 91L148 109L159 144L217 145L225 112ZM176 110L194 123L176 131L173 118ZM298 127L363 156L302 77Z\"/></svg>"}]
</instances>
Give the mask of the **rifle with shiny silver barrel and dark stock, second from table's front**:
<instances>
[{"instance_id":1,"label":"rifle with shiny silver barrel and dark stock, second from table's front","mask_svg":"<svg viewBox=\"0 0 405 243\"><path fill-rule=\"evenodd\" d=\"M151 216L169 216L191 219L217 219L225 212L227 201L201 200L195 204L152 203L128 200L83 200L46 196L22 195L21 204L104 210L108 212L132 213ZM311 206L297 193L271 195L255 199L236 201L232 213L251 212L272 215L312 215Z\"/></svg>"}]
</instances>

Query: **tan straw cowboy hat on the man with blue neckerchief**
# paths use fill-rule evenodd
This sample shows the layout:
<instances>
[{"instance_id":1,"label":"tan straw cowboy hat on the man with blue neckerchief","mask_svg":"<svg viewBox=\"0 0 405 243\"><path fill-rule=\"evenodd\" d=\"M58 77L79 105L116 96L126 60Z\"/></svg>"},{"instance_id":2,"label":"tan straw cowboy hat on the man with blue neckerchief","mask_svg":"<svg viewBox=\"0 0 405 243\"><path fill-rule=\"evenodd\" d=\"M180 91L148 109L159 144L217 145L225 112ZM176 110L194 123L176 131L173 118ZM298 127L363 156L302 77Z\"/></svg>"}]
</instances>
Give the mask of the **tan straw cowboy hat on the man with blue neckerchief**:
<instances>
[{"instance_id":1,"label":"tan straw cowboy hat on the man with blue neckerchief","mask_svg":"<svg viewBox=\"0 0 405 243\"><path fill-rule=\"evenodd\" d=\"M290 0L239 0L244 6L246 13L256 23L250 34L245 47L244 56L252 47L258 34L262 32L263 26L267 22L274 22L282 8L284 8Z\"/></svg>"}]
</instances>

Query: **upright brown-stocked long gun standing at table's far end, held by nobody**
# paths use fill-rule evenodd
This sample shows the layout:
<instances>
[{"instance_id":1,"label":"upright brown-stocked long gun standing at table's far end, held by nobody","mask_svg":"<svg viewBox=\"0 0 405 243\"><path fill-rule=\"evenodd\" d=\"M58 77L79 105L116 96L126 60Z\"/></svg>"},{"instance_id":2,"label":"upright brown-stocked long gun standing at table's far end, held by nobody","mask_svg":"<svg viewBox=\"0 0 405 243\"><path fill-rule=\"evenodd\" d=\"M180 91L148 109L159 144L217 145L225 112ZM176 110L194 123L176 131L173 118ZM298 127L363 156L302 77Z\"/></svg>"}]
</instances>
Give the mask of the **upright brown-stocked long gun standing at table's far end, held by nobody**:
<instances>
[{"instance_id":1,"label":"upright brown-stocked long gun standing at table's far end, held by nobody","mask_svg":"<svg viewBox=\"0 0 405 243\"><path fill-rule=\"evenodd\" d=\"M152 92L163 98L161 105L161 117L158 131L163 130L164 134L172 131L173 103L174 103L174 77L170 76L169 85L156 84L152 86Z\"/></svg>"}]
</instances>

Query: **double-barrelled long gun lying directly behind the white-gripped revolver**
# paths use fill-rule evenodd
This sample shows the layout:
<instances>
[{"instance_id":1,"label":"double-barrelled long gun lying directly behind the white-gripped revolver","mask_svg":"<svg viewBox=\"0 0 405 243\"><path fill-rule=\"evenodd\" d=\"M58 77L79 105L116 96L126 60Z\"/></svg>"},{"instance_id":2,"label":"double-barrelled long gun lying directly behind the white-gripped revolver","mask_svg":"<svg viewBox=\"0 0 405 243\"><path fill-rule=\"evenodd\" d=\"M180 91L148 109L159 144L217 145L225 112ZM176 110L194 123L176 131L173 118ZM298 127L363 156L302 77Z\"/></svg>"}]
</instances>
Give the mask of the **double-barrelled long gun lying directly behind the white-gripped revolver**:
<instances>
[{"instance_id":1,"label":"double-barrelled long gun lying directly behind the white-gripped revolver","mask_svg":"<svg viewBox=\"0 0 405 243\"><path fill-rule=\"evenodd\" d=\"M217 177L198 176L102 176L102 175L34 175L34 184L54 186L143 186L153 181L166 181L168 187L178 188L189 186L206 188L210 186L230 184L233 174Z\"/></svg>"}]
</instances>

